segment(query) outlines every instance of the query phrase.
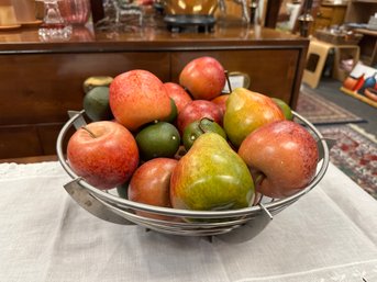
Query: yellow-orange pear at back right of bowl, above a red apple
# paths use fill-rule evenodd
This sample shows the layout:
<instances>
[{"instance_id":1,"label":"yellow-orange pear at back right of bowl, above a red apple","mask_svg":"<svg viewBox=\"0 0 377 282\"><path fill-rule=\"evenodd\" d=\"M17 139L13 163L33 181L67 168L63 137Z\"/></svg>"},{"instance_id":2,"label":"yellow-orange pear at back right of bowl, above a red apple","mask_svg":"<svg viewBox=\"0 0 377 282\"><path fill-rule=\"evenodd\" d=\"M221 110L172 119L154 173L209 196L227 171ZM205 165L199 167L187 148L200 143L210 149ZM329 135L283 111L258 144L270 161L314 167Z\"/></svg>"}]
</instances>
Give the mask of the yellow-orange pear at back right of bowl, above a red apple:
<instances>
[{"instance_id":1,"label":"yellow-orange pear at back right of bowl, above a red apple","mask_svg":"<svg viewBox=\"0 0 377 282\"><path fill-rule=\"evenodd\" d=\"M256 128L282 120L285 115L271 98L246 88L236 88L226 100L223 127L231 143L240 147Z\"/></svg>"}]
</instances>

